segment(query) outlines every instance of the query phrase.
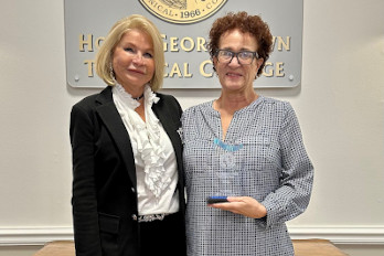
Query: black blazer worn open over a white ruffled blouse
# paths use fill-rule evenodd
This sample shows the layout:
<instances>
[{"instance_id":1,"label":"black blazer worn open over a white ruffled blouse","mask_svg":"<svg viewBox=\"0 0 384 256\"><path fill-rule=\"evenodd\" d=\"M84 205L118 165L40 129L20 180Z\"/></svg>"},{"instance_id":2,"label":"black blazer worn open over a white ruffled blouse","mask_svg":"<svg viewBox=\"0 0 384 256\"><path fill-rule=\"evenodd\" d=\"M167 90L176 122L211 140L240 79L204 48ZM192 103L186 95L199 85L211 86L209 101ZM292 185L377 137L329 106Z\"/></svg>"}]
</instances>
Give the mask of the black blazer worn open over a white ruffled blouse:
<instances>
[{"instance_id":1,"label":"black blazer worn open over a white ruffled blouse","mask_svg":"<svg viewBox=\"0 0 384 256\"><path fill-rule=\"evenodd\" d=\"M180 211L184 216L181 107L157 94L152 110L172 141L178 161ZM139 255L137 186L129 135L113 102L111 87L73 106L73 221L77 256Z\"/></svg>"}]
</instances>

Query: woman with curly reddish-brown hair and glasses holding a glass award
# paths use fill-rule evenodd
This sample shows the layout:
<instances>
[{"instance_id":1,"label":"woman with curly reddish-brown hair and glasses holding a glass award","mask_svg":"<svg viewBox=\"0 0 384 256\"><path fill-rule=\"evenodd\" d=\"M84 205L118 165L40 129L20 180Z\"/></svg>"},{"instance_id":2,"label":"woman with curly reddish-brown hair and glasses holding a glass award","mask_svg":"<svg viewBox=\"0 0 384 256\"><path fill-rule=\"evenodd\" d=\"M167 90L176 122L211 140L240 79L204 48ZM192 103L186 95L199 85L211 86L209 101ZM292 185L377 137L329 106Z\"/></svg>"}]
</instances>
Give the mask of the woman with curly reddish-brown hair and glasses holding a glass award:
<instances>
[{"instance_id":1,"label":"woman with curly reddish-brown hair and glasses holding a glass award","mask_svg":"<svg viewBox=\"0 0 384 256\"><path fill-rule=\"evenodd\" d=\"M182 116L190 256L294 255L285 223L306 210L313 168L291 105L254 90L271 45L246 12L210 31L221 95Z\"/></svg>"}]
</instances>

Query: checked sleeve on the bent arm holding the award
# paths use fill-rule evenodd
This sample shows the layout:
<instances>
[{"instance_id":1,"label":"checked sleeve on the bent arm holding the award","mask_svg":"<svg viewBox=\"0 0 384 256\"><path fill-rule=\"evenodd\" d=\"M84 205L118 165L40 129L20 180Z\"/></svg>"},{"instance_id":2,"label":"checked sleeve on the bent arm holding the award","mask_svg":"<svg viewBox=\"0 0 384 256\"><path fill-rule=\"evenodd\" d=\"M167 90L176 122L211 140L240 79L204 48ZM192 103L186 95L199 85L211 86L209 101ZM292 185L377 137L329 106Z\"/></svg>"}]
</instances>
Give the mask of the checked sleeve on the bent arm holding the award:
<instances>
[{"instance_id":1,"label":"checked sleeve on the bent arm holding the award","mask_svg":"<svg viewBox=\"0 0 384 256\"><path fill-rule=\"evenodd\" d=\"M262 202L267 209L267 226L301 214L309 204L313 183L313 167L302 142L298 119L290 104L285 104L287 110L279 134L280 186Z\"/></svg>"}]
</instances>

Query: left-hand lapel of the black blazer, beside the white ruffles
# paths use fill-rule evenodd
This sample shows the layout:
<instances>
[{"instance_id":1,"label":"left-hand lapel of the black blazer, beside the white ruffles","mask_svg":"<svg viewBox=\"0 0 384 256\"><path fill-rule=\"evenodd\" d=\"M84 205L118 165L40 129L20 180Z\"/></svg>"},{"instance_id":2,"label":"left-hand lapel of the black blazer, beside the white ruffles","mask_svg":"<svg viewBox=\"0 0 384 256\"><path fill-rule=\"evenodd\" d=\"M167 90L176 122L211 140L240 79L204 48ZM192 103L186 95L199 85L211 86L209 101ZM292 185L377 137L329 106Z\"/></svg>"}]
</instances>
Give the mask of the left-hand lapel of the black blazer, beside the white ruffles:
<instances>
[{"instance_id":1,"label":"left-hand lapel of the black blazer, beside the white ruffles","mask_svg":"<svg viewBox=\"0 0 384 256\"><path fill-rule=\"evenodd\" d=\"M109 130L113 139L115 140L121 158L128 170L128 175L132 182L134 188L137 188L136 182L136 167L132 152L132 146L130 143L129 135L126 127L122 124L121 117L118 114L113 100L111 87L105 88L99 97L96 99L100 105L96 108L103 122Z\"/></svg>"}]
</instances>

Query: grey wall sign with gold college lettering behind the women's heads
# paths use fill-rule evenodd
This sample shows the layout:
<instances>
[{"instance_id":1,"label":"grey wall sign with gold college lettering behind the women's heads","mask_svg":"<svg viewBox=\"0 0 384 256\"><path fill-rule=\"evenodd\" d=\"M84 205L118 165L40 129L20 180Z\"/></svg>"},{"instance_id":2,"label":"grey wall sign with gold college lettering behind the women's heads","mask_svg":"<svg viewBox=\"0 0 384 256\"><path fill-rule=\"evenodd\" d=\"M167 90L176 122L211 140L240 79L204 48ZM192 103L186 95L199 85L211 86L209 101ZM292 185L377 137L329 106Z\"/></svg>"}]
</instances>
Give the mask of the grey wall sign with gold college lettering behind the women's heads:
<instances>
[{"instance_id":1,"label":"grey wall sign with gold college lettering behind the women's heads","mask_svg":"<svg viewBox=\"0 0 384 256\"><path fill-rule=\"evenodd\" d=\"M247 11L269 24L274 52L255 87L294 87L301 81L302 0L64 0L67 83L105 87L95 55L111 25L137 13L159 28L166 53L164 88L220 88L206 50L215 19Z\"/></svg>"}]
</instances>

